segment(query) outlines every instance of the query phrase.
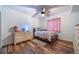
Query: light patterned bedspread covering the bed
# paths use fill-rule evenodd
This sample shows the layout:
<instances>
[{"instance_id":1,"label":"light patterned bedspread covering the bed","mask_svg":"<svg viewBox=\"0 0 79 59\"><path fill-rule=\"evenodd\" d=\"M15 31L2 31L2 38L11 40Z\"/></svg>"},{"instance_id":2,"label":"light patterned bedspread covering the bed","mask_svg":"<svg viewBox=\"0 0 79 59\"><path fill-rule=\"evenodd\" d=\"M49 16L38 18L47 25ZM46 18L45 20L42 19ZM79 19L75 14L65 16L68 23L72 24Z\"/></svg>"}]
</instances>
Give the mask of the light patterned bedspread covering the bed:
<instances>
[{"instance_id":1,"label":"light patterned bedspread covering the bed","mask_svg":"<svg viewBox=\"0 0 79 59\"><path fill-rule=\"evenodd\" d=\"M55 32L52 32L52 31L35 31L36 37L47 39L50 42L51 42L51 37L54 35L55 35Z\"/></svg>"}]
</instances>

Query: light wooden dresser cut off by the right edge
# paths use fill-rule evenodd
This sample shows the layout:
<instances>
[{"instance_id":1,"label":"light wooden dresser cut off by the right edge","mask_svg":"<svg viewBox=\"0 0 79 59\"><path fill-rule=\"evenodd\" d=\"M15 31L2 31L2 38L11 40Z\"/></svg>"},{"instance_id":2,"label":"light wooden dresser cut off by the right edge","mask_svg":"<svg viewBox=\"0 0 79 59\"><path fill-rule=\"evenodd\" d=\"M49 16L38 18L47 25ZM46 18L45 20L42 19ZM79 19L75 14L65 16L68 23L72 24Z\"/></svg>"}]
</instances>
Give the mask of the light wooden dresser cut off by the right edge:
<instances>
[{"instance_id":1,"label":"light wooden dresser cut off by the right edge","mask_svg":"<svg viewBox=\"0 0 79 59\"><path fill-rule=\"evenodd\" d=\"M79 25L75 26L74 53L79 54Z\"/></svg>"}]
</instances>

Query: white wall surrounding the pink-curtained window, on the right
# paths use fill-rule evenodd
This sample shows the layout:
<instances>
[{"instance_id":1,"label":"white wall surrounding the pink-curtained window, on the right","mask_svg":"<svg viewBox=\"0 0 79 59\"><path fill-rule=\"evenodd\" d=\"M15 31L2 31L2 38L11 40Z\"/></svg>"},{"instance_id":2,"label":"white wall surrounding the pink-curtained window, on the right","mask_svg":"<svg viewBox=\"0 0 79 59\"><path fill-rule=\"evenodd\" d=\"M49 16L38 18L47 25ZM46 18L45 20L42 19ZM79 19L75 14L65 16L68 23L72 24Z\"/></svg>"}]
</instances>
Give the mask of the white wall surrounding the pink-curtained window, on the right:
<instances>
[{"instance_id":1,"label":"white wall surrounding the pink-curtained window, on the right","mask_svg":"<svg viewBox=\"0 0 79 59\"><path fill-rule=\"evenodd\" d=\"M79 12L71 13L69 11L52 15L49 18L43 19L42 27L47 28L47 20L60 17L61 18L61 33L59 38L66 41L73 41L75 37L75 25L79 24Z\"/></svg>"}]
</instances>

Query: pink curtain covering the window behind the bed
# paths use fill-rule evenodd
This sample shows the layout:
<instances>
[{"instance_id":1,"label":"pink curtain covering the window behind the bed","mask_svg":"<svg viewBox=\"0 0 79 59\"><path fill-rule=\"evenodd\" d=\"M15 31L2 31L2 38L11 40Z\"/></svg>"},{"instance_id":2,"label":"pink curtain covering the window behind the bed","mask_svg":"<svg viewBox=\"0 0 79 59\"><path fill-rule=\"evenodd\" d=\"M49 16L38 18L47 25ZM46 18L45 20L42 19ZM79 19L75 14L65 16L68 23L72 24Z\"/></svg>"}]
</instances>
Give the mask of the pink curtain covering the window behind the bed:
<instances>
[{"instance_id":1,"label":"pink curtain covering the window behind the bed","mask_svg":"<svg viewBox=\"0 0 79 59\"><path fill-rule=\"evenodd\" d=\"M60 18L48 20L47 29L49 31L60 32Z\"/></svg>"}]
</instances>

